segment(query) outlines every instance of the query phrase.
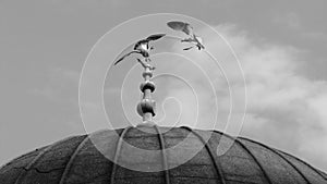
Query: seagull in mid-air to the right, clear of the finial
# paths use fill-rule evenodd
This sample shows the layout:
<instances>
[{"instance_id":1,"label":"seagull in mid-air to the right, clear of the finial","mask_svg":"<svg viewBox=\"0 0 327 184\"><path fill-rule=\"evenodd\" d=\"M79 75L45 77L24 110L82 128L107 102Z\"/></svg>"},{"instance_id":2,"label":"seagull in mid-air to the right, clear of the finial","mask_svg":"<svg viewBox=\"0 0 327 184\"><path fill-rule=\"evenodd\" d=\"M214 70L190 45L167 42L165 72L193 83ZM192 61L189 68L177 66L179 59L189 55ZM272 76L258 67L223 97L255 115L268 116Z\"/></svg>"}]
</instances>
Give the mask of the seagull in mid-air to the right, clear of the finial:
<instances>
[{"instance_id":1,"label":"seagull in mid-air to the right, clear of the finial","mask_svg":"<svg viewBox=\"0 0 327 184\"><path fill-rule=\"evenodd\" d=\"M190 36L189 38L182 39L182 42L193 42L193 44L195 44L195 46L197 47L198 50L205 48L203 45L202 38L199 36L196 36L193 33L193 27L189 23L184 23L184 22L180 22L180 21L171 21L171 22L168 22L167 25L174 30L183 32L187 36ZM183 50L190 50L192 48L193 48L193 46L187 47Z\"/></svg>"}]
</instances>

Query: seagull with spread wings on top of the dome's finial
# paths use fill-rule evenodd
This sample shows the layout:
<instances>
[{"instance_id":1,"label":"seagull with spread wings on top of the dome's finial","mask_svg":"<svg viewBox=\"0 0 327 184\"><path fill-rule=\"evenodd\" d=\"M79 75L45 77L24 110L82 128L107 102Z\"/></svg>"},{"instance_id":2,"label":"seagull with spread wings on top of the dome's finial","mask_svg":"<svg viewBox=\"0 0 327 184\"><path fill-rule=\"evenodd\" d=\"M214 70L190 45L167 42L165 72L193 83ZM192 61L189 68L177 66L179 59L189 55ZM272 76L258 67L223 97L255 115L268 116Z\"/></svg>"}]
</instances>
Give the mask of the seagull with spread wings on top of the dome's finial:
<instances>
[{"instance_id":1,"label":"seagull with spread wings on top of the dome's finial","mask_svg":"<svg viewBox=\"0 0 327 184\"><path fill-rule=\"evenodd\" d=\"M155 34L155 35L150 35L145 39L142 39L140 41L137 41L134 45L134 48L131 52L124 54L123 57L121 57L119 60L117 60L114 62L113 65L118 64L119 62L121 62L124 58L129 57L132 53L138 53L142 54L142 57L145 58L146 61L150 61L149 60L149 51L154 49L154 47L149 46L149 41L154 41L157 39L160 39L161 37L166 36L166 34Z\"/></svg>"}]
</instances>

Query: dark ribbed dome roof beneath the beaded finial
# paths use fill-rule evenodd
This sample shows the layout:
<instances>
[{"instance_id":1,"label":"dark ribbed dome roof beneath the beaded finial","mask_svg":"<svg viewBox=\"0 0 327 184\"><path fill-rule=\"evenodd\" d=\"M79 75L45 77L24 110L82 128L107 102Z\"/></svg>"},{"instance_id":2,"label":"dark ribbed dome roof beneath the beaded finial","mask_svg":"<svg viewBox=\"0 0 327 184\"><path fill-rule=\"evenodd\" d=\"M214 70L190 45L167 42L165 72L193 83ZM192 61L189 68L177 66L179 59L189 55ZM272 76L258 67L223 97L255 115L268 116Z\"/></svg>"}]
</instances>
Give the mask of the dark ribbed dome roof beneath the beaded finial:
<instances>
[{"instance_id":1,"label":"dark ribbed dome roof beneath the beaded finial","mask_svg":"<svg viewBox=\"0 0 327 184\"><path fill-rule=\"evenodd\" d=\"M159 133L153 134L150 132ZM247 138L237 138L222 156L216 149L220 132L195 131L189 127L128 127L116 130L121 139L105 138L113 131L101 131L95 136L108 142L108 150L116 160L134 159L133 152L123 154L125 144L149 150L167 149L190 140L184 151L207 144L187 162L160 172L133 171L108 160L90 142L89 136L74 136L36 149L14 159L0 169L1 184L178 184L178 183L327 183L327 175L300 159ZM233 139L232 137L229 137ZM106 145L106 143L104 143ZM192 147L193 145L193 147ZM183 155L183 151L180 152ZM152 158L146 158L150 160ZM159 162L167 168L172 159L161 152ZM144 163L140 163L144 164Z\"/></svg>"}]
</instances>

